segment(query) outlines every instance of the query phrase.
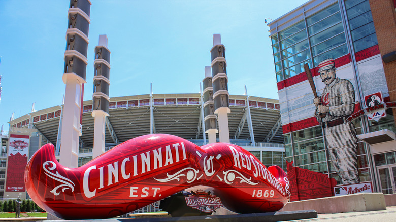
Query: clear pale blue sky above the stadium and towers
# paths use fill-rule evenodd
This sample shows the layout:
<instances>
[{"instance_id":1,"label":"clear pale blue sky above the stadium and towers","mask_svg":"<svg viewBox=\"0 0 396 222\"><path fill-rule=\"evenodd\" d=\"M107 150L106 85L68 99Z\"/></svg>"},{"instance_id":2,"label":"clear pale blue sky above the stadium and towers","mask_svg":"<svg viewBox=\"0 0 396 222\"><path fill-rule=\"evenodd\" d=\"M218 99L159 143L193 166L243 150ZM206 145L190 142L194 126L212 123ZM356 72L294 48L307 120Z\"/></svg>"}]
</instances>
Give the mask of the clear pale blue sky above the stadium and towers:
<instances>
[{"instance_id":1,"label":"clear pale blue sky above the stadium and towers","mask_svg":"<svg viewBox=\"0 0 396 222\"><path fill-rule=\"evenodd\" d=\"M110 97L199 93L210 66L213 34L221 34L228 91L278 99L269 27L306 0L91 0L87 83L92 99L94 48L106 34ZM0 126L10 117L62 104L69 0L0 0Z\"/></svg>"}]
</instances>

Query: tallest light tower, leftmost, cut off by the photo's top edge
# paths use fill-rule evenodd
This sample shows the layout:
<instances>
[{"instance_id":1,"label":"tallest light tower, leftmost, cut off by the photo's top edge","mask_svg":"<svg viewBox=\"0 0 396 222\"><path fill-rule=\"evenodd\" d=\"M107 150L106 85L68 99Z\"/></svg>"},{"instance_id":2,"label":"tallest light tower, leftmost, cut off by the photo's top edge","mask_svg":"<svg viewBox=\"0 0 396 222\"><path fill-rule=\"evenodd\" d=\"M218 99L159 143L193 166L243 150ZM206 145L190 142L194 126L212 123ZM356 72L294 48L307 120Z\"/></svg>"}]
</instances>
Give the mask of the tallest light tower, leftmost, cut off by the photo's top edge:
<instances>
[{"instance_id":1,"label":"tallest light tower, leftmost, cut off by the photo's top edge","mask_svg":"<svg viewBox=\"0 0 396 222\"><path fill-rule=\"evenodd\" d=\"M78 167L78 147L81 134L81 94L86 83L87 48L89 30L89 0L71 0L66 31L63 83L66 84L62 133L60 139L60 164Z\"/></svg>"}]
</instances>

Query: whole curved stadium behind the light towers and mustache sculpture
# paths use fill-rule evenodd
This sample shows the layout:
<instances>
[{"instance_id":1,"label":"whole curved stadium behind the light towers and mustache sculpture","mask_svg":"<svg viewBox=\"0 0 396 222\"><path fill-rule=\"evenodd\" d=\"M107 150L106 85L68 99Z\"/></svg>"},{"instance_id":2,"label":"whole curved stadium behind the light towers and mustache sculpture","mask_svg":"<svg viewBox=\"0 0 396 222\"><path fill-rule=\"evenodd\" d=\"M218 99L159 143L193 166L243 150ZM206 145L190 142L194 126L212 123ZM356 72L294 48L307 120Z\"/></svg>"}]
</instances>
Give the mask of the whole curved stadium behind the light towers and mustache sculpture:
<instances>
[{"instance_id":1,"label":"whole curved stadium behind the light towers and mustache sculpture","mask_svg":"<svg viewBox=\"0 0 396 222\"><path fill-rule=\"evenodd\" d=\"M79 142L79 166L92 159L94 118L92 100L84 101ZM230 95L228 126L230 143L237 144L265 165L286 168L284 160L280 107L276 99ZM30 136L29 156L46 143L56 147L59 157L63 104L25 114L11 120L10 132ZM152 111L152 112L151 112ZM202 94L145 94L112 97L106 117L106 150L131 138L150 134L172 134L197 145L207 143L203 135ZM250 130L249 130L250 129ZM218 136L216 136L218 138ZM6 138L3 138L5 142ZM2 188L5 184L6 147L2 163ZM3 197L4 191L0 193ZM23 197L23 195L22 195Z\"/></svg>"}]
</instances>

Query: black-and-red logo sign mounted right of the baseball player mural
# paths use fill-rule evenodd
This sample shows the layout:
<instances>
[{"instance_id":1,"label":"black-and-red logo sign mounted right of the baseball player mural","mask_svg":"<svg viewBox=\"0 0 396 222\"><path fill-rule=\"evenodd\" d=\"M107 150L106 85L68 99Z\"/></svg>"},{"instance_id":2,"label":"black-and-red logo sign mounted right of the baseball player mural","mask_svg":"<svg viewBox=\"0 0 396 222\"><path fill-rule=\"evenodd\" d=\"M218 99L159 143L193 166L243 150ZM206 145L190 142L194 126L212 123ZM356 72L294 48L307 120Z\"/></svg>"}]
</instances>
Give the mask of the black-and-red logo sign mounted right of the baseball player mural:
<instances>
[{"instance_id":1,"label":"black-and-red logo sign mounted right of the baseball player mural","mask_svg":"<svg viewBox=\"0 0 396 222\"><path fill-rule=\"evenodd\" d=\"M368 120L379 121L381 117L386 117L386 110L383 103L382 93L377 92L365 96L366 107L372 112L367 114Z\"/></svg>"}]
</instances>

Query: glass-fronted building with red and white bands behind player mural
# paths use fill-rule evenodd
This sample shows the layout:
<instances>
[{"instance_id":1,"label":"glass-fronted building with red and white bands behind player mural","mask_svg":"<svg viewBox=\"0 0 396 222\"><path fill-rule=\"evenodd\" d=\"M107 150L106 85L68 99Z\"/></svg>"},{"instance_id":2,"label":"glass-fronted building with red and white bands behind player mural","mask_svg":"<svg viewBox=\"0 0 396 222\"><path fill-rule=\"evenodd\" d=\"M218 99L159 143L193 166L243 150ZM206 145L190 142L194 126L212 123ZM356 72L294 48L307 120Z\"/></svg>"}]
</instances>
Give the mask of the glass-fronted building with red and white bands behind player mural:
<instances>
[{"instance_id":1,"label":"glass-fronted building with red and white bands behind player mural","mask_svg":"<svg viewBox=\"0 0 396 222\"><path fill-rule=\"evenodd\" d=\"M325 84L319 77L318 64L333 58L336 77L350 81L354 87L354 112L367 108L365 97L373 93L381 93L382 103L389 102L369 0L308 1L268 26L286 160L296 167L327 174L342 184L328 154L324 128L314 117L314 96L303 66L309 65L320 97ZM380 132L394 134L392 109L385 109L385 113L386 116L377 121L366 115L351 121L359 138L360 182L372 182L375 192L388 194L396 193L394 182L389 182L396 176L394 140L385 143L365 140L375 138L374 134Z\"/></svg>"}]
</instances>

